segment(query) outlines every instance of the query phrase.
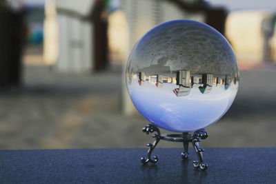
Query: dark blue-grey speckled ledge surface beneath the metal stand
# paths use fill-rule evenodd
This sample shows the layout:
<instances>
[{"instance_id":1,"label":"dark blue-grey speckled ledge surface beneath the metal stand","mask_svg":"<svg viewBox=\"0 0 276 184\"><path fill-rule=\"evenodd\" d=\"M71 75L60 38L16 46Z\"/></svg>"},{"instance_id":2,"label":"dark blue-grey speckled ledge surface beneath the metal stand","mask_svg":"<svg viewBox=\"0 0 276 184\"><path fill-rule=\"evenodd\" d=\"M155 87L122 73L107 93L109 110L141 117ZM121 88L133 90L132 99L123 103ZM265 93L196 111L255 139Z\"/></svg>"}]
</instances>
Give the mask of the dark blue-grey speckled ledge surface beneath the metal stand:
<instances>
[{"instance_id":1,"label":"dark blue-grey speckled ledge surface beneath the metal stand","mask_svg":"<svg viewBox=\"0 0 276 184\"><path fill-rule=\"evenodd\" d=\"M0 183L275 183L276 148L206 148L208 170L182 161L181 148L157 148L157 164L141 165L146 149L1 150Z\"/></svg>"}]
</instances>

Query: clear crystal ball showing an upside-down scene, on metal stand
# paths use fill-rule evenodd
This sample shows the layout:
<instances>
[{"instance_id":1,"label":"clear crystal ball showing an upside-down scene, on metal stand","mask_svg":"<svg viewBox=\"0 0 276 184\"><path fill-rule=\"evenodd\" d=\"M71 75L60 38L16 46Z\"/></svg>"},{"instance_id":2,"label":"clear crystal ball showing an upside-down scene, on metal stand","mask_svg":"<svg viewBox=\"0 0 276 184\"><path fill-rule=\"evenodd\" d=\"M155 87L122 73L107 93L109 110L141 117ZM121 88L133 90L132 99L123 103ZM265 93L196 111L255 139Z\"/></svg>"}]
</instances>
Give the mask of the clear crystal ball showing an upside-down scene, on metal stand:
<instances>
[{"instance_id":1,"label":"clear crystal ball showing an upside-down scene, on metal stand","mask_svg":"<svg viewBox=\"0 0 276 184\"><path fill-rule=\"evenodd\" d=\"M150 123L194 132L218 121L232 105L239 86L237 59L226 38L209 25L168 21L132 49L126 85Z\"/></svg>"}]
</instances>

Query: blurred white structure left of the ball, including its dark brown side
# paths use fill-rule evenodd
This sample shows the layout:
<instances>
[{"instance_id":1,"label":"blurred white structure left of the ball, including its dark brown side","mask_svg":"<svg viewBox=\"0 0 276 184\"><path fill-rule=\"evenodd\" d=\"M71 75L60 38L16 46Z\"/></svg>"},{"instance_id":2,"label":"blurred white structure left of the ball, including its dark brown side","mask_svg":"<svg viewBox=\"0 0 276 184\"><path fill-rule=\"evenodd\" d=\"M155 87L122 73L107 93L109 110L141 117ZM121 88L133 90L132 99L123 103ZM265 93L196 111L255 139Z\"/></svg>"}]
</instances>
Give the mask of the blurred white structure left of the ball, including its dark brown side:
<instances>
[{"instance_id":1,"label":"blurred white structure left of the ball, including its dark brown side","mask_svg":"<svg viewBox=\"0 0 276 184\"><path fill-rule=\"evenodd\" d=\"M86 73L107 65L103 1L47 0L44 59L60 72Z\"/></svg>"}]
</instances>

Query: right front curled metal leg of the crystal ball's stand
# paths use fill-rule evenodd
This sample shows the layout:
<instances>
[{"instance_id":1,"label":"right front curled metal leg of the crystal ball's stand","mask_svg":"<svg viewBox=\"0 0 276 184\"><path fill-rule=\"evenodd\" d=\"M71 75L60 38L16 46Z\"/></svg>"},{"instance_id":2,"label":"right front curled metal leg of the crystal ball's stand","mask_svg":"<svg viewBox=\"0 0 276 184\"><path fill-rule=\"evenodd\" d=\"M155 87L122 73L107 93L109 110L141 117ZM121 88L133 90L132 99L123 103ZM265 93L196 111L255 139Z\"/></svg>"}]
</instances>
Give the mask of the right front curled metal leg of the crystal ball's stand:
<instances>
[{"instance_id":1,"label":"right front curled metal leg of the crystal ball's stand","mask_svg":"<svg viewBox=\"0 0 276 184\"><path fill-rule=\"evenodd\" d=\"M204 129L197 130L193 134L192 143L193 143L193 147L195 148L195 152L197 153L197 157L199 159L198 161L193 161L193 165L195 168L200 169L202 171L206 170L208 168L208 165L203 161L202 152L204 152L204 148L199 147L199 142L201 141L201 139L206 139L207 137L208 137L208 134Z\"/></svg>"}]
</instances>

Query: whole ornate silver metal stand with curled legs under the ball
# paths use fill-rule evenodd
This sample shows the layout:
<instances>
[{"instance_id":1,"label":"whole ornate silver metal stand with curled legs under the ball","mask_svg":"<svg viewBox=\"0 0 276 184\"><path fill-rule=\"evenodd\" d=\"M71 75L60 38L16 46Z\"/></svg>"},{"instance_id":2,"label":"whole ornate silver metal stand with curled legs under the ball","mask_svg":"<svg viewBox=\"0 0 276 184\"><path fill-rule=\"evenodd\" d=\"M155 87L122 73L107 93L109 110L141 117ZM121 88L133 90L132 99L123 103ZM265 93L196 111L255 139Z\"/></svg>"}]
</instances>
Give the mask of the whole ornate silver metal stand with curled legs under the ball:
<instances>
[{"instance_id":1,"label":"whole ornate silver metal stand with curled legs under the ball","mask_svg":"<svg viewBox=\"0 0 276 184\"><path fill-rule=\"evenodd\" d=\"M208 165L207 163L204 163L203 161L203 154L204 148L199 147L199 142L201 139L206 139L208 137L208 133L205 129L197 130L193 133L193 136L188 133L182 133L182 134L160 134L160 130L155 125L148 124L143 128L143 132L146 132L146 134L157 132L157 134L152 134L152 137L154 137L156 140L155 142L148 143L147 146L148 149L148 158L142 157L141 163L157 163L158 156L153 156L153 159L151 158L152 150L155 149L156 145L159 143L160 139L164 141L172 141L172 142L182 142L184 146L184 152L181 153L182 159L186 160L188 159L188 146L189 143L193 143L193 147L195 149L195 152L197 153L198 161L193 161L193 166L196 169L199 170L207 170Z\"/></svg>"}]
</instances>

